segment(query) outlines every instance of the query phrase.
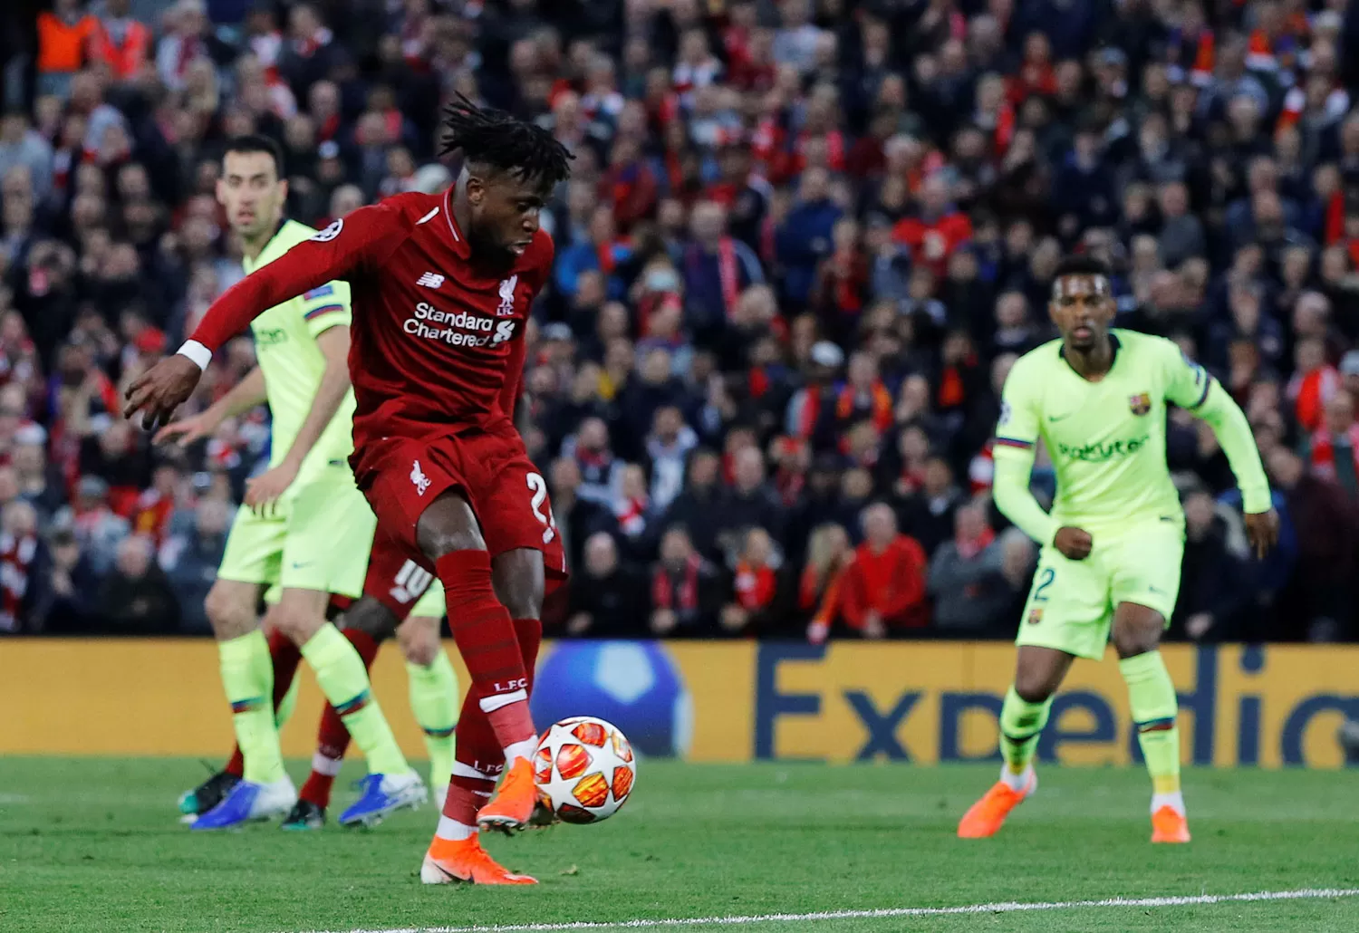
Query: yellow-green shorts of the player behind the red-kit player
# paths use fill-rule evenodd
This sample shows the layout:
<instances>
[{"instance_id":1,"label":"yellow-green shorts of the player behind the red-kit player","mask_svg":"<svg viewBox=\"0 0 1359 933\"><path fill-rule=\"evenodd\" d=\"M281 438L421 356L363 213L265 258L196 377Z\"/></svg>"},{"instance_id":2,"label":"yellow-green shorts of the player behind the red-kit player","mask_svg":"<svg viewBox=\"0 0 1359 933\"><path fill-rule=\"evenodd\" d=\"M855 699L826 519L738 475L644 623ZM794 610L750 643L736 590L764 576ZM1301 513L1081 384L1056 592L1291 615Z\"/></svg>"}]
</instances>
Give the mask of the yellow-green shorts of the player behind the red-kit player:
<instances>
[{"instance_id":1,"label":"yellow-green shorts of the player behind the red-kit player","mask_svg":"<svg viewBox=\"0 0 1359 933\"><path fill-rule=\"evenodd\" d=\"M378 519L348 467L333 473L289 489L270 517L242 505L217 579L361 596Z\"/></svg>"}]
</instances>

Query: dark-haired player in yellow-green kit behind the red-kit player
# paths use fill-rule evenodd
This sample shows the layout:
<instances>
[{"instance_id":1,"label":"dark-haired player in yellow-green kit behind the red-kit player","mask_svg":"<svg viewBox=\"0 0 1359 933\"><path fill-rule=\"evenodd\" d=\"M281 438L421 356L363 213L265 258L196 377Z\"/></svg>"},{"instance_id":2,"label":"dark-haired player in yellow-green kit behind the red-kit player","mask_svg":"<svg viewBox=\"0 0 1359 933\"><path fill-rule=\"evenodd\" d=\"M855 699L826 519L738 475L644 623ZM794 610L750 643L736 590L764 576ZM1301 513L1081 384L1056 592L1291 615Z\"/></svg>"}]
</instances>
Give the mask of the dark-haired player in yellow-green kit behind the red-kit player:
<instances>
[{"instance_id":1,"label":"dark-haired player in yellow-green kit behind the red-kit player","mask_svg":"<svg viewBox=\"0 0 1359 933\"><path fill-rule=\"evenodd\" d=\"M283 219L280 164L276 145L260 137L234 140L223 158L217 198L241 235L247 273L317 235ZM287 813L296 803L279 748L269 648L255 615L272 585L279 595L265 626L300 648L368 759L374 789L402 803L427 793L372 697L363 660L325 618L330 593L361 593L376 526L348 463L355 407L348 285L321 285L268 310L253 327L260 360L253 378L262 386L238 386L234 394L268 398L273 448L269 470L247 488L207 599L245 774L198 816L196 830Z\"/></svg>"}]
</instances>

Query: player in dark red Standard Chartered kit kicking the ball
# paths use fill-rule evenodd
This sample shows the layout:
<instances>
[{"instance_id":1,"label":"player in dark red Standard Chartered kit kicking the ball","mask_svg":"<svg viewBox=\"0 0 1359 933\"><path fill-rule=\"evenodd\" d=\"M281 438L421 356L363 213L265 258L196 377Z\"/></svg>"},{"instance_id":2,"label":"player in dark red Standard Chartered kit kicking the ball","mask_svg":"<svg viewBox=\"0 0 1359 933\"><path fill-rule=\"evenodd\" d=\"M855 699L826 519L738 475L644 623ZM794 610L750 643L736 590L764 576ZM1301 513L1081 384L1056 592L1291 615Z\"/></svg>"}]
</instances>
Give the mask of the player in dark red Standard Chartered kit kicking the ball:
<instances>
[{"instance_id":1,"label":"player in dark red Standard Chartered kit kicking the ball","mask_svg":"<svg viewBox=\"0 0 1359 933\"><path fill-rule=\"evenodd\" d=\"M492 555L512 580L511 602L541 606L542 550L556 523L503 397L552 266L540 212L569 177L571 156L542 128L466 99L448 110L446 129L444 152L463 153L451 189L360 208L241 280L177 354L132 383L125 414L143 413L145 426L169 421L212 353L255 315L326 281L349 282L351 459L378 516L375 550L439 577L472 675L474 703L457 736L459 763L474 756L463 780L454 773L421 879L533 884L497 865L477 830L525 827L537 799L529 678L541 625L496 599ZM469 807L501 769L495 796Z\"/></svg>"}]
</instances>

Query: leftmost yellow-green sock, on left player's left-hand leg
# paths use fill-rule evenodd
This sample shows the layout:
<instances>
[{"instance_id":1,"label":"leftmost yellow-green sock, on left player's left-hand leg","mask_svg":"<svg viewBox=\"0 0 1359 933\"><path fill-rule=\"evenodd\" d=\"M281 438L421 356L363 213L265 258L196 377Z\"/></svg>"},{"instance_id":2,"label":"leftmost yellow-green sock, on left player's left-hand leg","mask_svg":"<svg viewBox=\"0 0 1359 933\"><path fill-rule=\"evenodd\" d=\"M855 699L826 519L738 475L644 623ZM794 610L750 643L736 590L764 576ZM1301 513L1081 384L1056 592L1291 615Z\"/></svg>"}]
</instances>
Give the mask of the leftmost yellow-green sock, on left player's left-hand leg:
<instances>
[{"instance_id":1,"label":"leftmost yellow-green sock, on left player's left-hand leg","mask_svg":"<svg viewBox=\"0 0 1359 933\"><path fill-rule=\"evenodd\" d=\"M245 780L273 784L287 777L279 729L273 724L273 663L260 630L217 642L222 686L231 703L231 724L245 758Z\"/></svg>"}]
</instances>

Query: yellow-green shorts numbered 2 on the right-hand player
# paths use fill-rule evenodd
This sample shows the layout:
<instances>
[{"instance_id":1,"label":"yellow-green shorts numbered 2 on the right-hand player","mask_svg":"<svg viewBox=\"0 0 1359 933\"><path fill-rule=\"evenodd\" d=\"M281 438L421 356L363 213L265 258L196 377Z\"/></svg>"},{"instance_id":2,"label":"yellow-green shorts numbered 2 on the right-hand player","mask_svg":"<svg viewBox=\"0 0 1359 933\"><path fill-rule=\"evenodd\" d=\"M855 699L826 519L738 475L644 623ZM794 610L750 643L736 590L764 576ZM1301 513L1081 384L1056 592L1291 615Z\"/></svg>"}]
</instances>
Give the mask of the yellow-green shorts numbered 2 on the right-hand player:
<instances>
[{"instance_id":1,"label":"yellow-green shorts numbered 2 on the right-hand player","mask_svg":"<svg viewBox=\"0 0 1359 933\"><path fill-rule=\"evenodd\" d=\"M1154 608L1169 625L1180 593L1184 524L1139 523L1091 536L1094 547L1083 561L1067 560L1051 545L1040 551L1017 645L1099 660L1118 603Z\"/></svg>"}]
</instances>

